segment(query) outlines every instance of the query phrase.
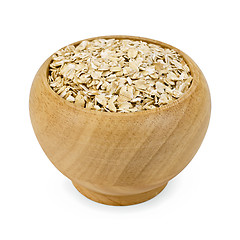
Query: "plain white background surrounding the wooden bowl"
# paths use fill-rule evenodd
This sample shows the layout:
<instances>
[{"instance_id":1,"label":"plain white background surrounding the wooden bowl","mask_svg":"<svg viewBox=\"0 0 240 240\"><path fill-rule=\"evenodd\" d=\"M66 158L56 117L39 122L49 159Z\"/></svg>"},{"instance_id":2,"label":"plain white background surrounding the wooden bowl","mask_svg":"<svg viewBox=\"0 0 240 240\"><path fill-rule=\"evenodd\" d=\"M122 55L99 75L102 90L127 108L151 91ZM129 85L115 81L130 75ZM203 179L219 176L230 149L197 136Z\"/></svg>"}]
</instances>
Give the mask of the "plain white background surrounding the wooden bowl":
<instances>
[{"instance_id":1,"label":"plain white background surrounding the wooden bowl","mask_svg":"<svg viewBox=\"0 0 240 240\"><path fill-rule=\"evenodd\" d=\"M1 1L0 239L240 239L239 1ZM43 61L99 35L157 39L205 74L211 122L193 161L156 198L112 207L83 197L47 159L28 98Z\"/></svg>"}]
</instances>

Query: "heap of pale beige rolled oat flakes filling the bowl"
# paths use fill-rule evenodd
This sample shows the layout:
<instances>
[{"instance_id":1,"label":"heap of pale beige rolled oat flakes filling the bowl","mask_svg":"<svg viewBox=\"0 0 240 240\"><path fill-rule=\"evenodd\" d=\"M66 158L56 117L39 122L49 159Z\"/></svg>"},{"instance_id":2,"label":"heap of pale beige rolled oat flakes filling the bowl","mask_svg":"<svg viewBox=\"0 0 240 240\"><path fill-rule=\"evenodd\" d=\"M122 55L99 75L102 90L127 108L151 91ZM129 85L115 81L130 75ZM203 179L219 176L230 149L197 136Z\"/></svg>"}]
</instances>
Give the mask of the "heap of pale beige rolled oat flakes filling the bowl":
<instances>
[{"instance_id":1,"label":"heap of pale beige rolled oat flakes filling the bowl","mask_svg":"<svg viewBox=\"0 0 240 240\"><path fill-rule=\"evenodd\" d=\"M175 50L143 41L82 41L52 59L51 88L73 104L98 111L154 109L181 97L192 82Z\"/></svg>"}]
</instances>

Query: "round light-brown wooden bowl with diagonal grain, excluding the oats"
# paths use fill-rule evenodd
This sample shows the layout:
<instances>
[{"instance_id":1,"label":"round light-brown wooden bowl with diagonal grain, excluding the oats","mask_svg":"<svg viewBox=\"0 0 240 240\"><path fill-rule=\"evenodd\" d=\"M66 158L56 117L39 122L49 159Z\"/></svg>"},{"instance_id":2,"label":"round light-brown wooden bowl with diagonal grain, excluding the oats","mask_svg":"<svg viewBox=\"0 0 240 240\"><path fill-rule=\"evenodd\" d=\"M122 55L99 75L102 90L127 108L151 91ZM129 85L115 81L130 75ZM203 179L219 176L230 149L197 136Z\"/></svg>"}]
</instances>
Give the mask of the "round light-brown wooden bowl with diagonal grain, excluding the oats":
<instances>
[{"instance_id":1,"label":"round light-brown wooden bowl with diagonal grain, excluding the oats","mask_svg":"<svg viewBox=\"0 0 240 240\"><path fill-rule=\"evenodd\" d=\"M144 202L160 193L200 147L210 118L208 85L195 62L166 43L132 36L97 38L142 40L175 49L190 67L190 89L154 110L87 110L50 88L49 57L31 88L33 129L47 157L86 197L108 205Z\"/></svg>"}]
</instances>

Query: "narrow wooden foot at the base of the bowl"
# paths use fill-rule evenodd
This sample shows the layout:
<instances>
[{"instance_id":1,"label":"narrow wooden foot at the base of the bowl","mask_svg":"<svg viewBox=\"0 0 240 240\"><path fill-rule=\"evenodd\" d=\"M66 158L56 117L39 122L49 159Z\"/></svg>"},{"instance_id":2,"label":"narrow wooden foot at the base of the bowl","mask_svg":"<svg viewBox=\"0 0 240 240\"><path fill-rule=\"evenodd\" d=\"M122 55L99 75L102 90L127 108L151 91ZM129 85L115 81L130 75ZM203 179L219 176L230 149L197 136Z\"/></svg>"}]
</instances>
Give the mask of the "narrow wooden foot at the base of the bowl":
<instances>
[{"instance_id":1,"label":"narrow wooden foot at the base of the bowl","mask_svg":"<svg viewBox=\"0 0 240 240\"><path fill-rule=\"evenodd\" d=\"M127 206L142 203L157 196L166 187L167 183L148 192L125 196L105 195L91 191L75 183L73 185L81 194L95 202L113 206Z\"/></svg>"}]
</instances>

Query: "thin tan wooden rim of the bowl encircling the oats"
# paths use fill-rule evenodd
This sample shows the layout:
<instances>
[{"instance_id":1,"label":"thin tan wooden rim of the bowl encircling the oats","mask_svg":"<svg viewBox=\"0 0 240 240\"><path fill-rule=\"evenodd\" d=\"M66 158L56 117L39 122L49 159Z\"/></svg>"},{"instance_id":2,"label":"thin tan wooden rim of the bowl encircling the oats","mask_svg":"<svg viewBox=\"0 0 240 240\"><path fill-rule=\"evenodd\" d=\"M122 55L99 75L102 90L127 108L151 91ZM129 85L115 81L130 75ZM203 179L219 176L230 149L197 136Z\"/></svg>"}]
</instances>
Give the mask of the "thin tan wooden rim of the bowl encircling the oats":
<instances>
[{"instance_id":1,"label":"thin tan wooden rim of the bowl encircling the oats","mask_svg":"<svg viewBox=\"0 0 240 240\"><path fill-rule=\"evenodd\" d=\"M176 105L178 105L179 103L182 103L184 101L186 101L186 99L188 99L189 96L192 95L192 93L195 91L199 81L200 81L200 73L199 73L199 68L196 65L196 63L184 52L182 52L180 49L169 45L167 43L158 41L158 40L154 40L154 39L150 39L150 38L145 38L145 37L138 37L138 36L129 36L129 35L106 35L106 36L98 36L98 37L91 37L91 38L86 38L68 45L77 45L82 41L92 41L95 39L100 39L100 38L104 38L104 39L129 39L129 40L135 40L135 41L145 41L147 43L150 44L156 44L156 45L160 45L161 47L166 47L166 48L170 48L170 49L174 49L176 52L178 52L184 59L184 61L187 63L189 69L190 69L190 73L191 76L193 77L192 83L190 88L178 99L175 99L174 101L157 107L155 109L148 109L148 110L143 110L143 111L136 111L136 112L127 112L127 113L122 113L122 112L106 112L106 111L97 111L97 110L92 110L92 109L86 109L86 108L82 108L80 106L77 106L69 101L67 101L66 99L60 97L56 92L53 91L53 89L50 87L49 83L48 83L48 75L49 75L49 67L50 67L50 63L52 60L52 56L54 55L54 53L43 63L42 67L43 67L43 73L44 73L44 78L41 78L44 87L46 88L46 90L54 97L56 98L56 100L62 102L62 104L66 104L67 106L69 106L70 108L73 108L77 111L80 111L82 113L90 113L90 114L101 114L101 115L110 115L110 116L137 116L137 115L144 115L144 114L153 114L153 113L160 113L162 111L165 110L169 110L173 107L175 107ZM68 46L66 45L66 46ZM59 50L65 48L66 46L60 48ZM42 68L41 67L41 68ZM40 68L40 69L41 69Z\"/></svg>"}]
</instances>

